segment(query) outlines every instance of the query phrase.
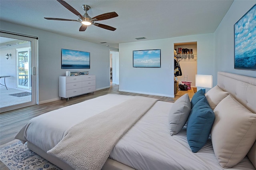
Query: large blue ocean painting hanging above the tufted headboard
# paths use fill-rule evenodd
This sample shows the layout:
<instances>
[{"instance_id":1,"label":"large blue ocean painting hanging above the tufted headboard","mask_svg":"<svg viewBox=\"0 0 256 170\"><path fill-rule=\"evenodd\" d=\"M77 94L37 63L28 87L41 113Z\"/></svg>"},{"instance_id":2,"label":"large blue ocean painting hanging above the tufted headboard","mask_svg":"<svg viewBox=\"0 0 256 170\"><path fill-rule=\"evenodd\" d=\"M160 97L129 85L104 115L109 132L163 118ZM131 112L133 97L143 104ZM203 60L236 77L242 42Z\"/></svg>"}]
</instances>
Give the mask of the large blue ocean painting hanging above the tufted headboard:
<instances>
[{"instance_id":1,"label":"large blue ocean painting hanging above the tufted headboard","mask_svg":"<svg viewBox=\"0 0 256 170\"><path fill-rule=\"evenodd\" d=\"M256 5L234 25L235 69L256 70Z\"/></svg>"}]
</instances>

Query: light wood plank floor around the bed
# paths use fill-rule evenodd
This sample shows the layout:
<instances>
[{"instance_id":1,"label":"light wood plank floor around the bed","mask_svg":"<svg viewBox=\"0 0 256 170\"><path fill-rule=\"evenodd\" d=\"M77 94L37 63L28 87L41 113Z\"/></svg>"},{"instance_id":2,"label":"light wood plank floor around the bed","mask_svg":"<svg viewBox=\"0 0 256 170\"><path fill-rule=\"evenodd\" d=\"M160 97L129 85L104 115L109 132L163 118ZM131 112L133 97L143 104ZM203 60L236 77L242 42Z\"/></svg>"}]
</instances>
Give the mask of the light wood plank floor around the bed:
<instances>
[{"instance_id":1,"label":"light wood plank floor around the bed","mask_svg":"<svg viewBox=\"0 0 256 170\"><path fill-rule=\"evenodd\" d=\"M93 99L95 97L99 97L102 95L106 95L109 93L112 94L120 94L120 95L140 95L145 97L152 97L159 99L160 101L167 101L167 102L174 102L180 96L188 93L189 96L192 98L194 92L192 90L188 91L178 91L174 98L172 97L162 97L162 96L154 96L154 95L143 95L138 93L128 93L128 92L120 92L118 91L119 85L112 85L110 88L102 89L95 91L94 94L89 93L81 96L77 96L74 98L70 98L69 101L66 99L62 99L59 101L54 101L50 103L44 103L41 105L34 105L30 107L25 107L22 109L17 109L14 111L8 111L0 114L0 145L6 142L14 140L15 135L20 131L20 129L33 117L38 115L44 114L46 112L60 109L62 107L73 105L76 103L80 103L82 101L86 101L89 99ZM2 162L0 162L0 169L1 170L8 170L8 168L4 166Z\"/></svg>"}]
</instances>

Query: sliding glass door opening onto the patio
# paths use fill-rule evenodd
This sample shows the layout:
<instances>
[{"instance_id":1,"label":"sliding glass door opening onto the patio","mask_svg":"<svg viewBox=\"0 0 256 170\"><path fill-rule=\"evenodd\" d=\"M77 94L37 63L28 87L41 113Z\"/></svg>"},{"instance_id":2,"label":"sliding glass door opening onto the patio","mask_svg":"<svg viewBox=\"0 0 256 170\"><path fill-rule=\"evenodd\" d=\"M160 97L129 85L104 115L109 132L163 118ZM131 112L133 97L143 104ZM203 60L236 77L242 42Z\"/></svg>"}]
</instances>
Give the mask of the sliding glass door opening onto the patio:
<instances>
[{"instance_id":1,"label":"sliding glass door opening onto the patio","mask_svg":"<svg viewBox=\"0 0 256 170\"><path fill-rule=\"evenodd\" d=\"M2 33L0 36L0 113L37 102L37 54L35 38ZM6 85L4 87L3 85Z\"/></svg>"}]
</instances>

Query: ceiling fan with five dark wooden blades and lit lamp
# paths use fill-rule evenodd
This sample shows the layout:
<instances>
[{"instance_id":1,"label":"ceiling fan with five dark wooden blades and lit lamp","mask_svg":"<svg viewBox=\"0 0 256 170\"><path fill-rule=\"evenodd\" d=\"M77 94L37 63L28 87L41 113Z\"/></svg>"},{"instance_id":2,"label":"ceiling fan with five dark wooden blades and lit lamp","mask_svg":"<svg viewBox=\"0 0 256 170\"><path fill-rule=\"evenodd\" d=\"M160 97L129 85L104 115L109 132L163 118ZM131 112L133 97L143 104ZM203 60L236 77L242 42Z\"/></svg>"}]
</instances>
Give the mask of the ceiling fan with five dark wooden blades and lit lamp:
<instances>
[{"instance_id":1,"label":"ceiling fan with five dark wooden blades and lit lamp","mask_svg":"<svg viewBox=\"0 0 256 170\"><path fill-rule=\"evenodd\" d=\"M118 16L118 14L116 14L116 12L108 12L108 13L101 14L101 15L98 15L98 16L95 16L95 17L91 18L87 14L87 11L91 8L90 6L82 5L82 8L85 10L85 14L81 15L77 10L75 10L72 6L70 6L64 0L57 0L57 1L60 2L60 4L62 4L65 8L67 8L68 10L73 12L76 16L78 16L79 17L78 20L69 20L69 19L63 19L63 18L45 18L46 20L59 20L59 21L76 21L76 22L80 22L80 23L82 23L82 26L79 28L79 31L85 31L87 26L90 26L90 25L98 26L100 28L104 28L106 30L111 30L111 31L116 30L116 28L114 28L114 27L94 22L94 21L100 21L100 20L107 20L107 19L110 19L110 18L115 18L115 17Z\"/></svg>"}]
</instances>

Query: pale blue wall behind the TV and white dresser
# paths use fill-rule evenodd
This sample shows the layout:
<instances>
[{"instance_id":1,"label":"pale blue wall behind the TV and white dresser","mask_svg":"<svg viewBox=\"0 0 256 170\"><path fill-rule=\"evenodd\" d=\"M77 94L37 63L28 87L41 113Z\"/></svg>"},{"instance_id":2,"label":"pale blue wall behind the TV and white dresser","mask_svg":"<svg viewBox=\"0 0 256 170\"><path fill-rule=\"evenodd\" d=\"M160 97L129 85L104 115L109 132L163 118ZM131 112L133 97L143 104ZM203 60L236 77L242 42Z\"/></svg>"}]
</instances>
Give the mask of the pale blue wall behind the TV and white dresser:
<instances>
[{"instance_id":1,"label":"pale blue wall behind the TV and white dresser","mask_svg":"<svg viewBox=\"0 0 256 170\"><path fill-rule=\"evenodd\" d=\"M38 37L39 103L60 99L58 77L66 72L61 69L62 48L90 52L90 69L70 71L89 71L96 75L96 89L110 87L109 47L4 21L0 21L0 26L1 30Z\"/></svg>"}]
</instances>

